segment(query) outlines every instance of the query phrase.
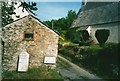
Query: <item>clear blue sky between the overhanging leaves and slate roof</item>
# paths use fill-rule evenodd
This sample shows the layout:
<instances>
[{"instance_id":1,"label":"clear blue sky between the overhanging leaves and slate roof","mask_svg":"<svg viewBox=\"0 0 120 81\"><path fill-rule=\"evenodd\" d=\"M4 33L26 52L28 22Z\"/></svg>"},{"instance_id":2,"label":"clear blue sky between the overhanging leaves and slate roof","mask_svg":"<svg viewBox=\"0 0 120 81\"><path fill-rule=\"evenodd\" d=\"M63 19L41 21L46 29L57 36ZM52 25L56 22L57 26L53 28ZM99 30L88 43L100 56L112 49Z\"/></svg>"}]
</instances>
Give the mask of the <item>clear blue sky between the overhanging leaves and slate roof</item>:
<instances>
[{"instance_id":1,"label":"clear blue sky between the overhanging leaves and slate roof","mask_svg":"<svg viewBox=\"0 0 120 81\"><path fill-rule=\"evenodd\" d=\"M69 10L78 13L81 2L37 2L36 17L41 21L66 17Z\"/></svg>"}]
</instances>

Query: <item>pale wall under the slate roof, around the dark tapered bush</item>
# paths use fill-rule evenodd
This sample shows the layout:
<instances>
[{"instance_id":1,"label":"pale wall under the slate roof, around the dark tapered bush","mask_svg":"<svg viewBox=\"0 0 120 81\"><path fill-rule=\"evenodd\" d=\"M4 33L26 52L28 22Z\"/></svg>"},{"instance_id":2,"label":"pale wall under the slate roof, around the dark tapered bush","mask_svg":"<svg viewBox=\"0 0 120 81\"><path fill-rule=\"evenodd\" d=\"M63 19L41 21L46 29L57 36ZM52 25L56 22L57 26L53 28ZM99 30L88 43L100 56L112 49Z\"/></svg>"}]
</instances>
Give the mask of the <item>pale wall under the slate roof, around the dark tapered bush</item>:
<instances>
[{"instance_id":1,"label":"pale wall under the slate roof, around the dark tapered bush","mask_svg":"<svg viewBox=\"0 0 120 81\"><path fill-rule=\"evenodd\" d=\"M95 32L96 30L100 29L108 29L110 30L110 35L108 37L107 42L109 43L119 43L120 42L120 37L118 35L120 28L118 27L118 23L113 23L113 24L103 24L103 25L96 25L96 26L91 26L91 36L92 39L98 43L96 37L95 37Z\"/></svg>"}]
</instances>

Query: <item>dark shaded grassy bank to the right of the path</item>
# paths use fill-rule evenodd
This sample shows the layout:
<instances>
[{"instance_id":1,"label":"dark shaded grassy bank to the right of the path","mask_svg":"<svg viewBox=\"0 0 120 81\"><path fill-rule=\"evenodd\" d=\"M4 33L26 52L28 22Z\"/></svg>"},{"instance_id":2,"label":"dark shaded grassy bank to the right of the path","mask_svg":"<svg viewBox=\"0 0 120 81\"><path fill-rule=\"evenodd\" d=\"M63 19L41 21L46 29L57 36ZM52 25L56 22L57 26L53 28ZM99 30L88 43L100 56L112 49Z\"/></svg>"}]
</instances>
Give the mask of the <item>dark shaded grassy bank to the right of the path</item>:
<instances>
[{"instance_id":1,"label":"dark shaded grassy bank to the right of the path","mask_svg":"<svg viewBox=\"0 0 120 81\"><path fill-rule=\"evenodd\" d=\"M103 47L98 44L82 47L63 46L59 48L59 54L101 78L116 79L120 78L117 75L120 74L119 47L118 44L105 44Z\"/></svg>"}]
</instances>

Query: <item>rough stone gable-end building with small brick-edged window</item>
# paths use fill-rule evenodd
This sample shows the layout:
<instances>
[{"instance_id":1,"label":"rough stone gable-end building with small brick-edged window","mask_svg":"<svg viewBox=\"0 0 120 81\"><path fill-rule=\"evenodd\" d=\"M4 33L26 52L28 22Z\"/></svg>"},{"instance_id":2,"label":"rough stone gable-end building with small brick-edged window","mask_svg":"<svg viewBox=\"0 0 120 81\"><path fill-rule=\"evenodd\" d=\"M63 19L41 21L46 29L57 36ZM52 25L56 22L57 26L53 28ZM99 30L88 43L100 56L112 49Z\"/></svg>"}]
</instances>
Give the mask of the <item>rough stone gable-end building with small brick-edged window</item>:
<instances>
[{"instance_id":1,"label":"rough stone gable-end building with small brick-edged window","mask_svg":"<svg viewBox=\"0 0 120 81\"><path fill-rule=\"evenodd\" d=\"M29 68L47 65L45 57L57 57L58 34L32 15L6 25L2 31L3 70L16 70L18 56L24 52L29 54Z\"/></svg>"}]
</instances>

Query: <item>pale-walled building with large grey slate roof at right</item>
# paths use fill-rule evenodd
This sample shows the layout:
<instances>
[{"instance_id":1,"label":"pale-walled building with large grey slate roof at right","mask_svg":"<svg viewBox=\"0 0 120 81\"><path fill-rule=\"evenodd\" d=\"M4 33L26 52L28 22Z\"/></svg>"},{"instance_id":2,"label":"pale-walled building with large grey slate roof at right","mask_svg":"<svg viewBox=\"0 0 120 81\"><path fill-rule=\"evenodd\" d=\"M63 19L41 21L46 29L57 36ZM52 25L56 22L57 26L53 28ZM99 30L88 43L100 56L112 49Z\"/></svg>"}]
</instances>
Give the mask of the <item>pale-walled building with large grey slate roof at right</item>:
<instances>
[{"instance_id":1,"label":"pale-walled building with large grey slate roof at right","mask_svg":"<svg viewBox=\"0 0 120 81\"><path fill-rule=\"evenodd\" d=\"M95 32L109 30L107 42L120 42L120 2L83 2L78 17L73 21L71 28L77 31L88 31L91 39L97 43Z\"/></svg>"}]
</instances>

